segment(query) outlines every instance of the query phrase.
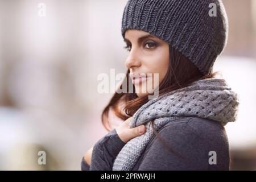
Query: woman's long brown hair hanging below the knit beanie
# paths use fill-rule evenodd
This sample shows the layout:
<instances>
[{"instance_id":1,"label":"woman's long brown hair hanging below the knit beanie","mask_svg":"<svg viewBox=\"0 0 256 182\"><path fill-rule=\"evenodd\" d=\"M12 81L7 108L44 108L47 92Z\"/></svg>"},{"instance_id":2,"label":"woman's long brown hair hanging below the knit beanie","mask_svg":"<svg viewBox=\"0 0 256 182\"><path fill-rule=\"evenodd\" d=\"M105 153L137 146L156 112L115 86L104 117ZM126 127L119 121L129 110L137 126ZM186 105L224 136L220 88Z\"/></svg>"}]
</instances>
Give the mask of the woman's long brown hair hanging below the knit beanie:
<instances>
[{"instance_id":1,"label":"woman's long brown hair hanging below the knit beanie","mask_svg":"<svg viewBox=\"0 0 256 182\"><path fill-rule=\"evenodd\" d=\"M201 80L204 78L212 78L214 77L217 72L212 73L212 71L208 75L203 75L199 71L199 69L189 60L187 57L183 56L179 51L170 47L170 58L169 58L169 67L166 73L166 76L163 78L163 81L159 84L159 96L162 94L171 92L172 90L176 90L179 88L183 88L192 84L192 82ZM129 88L129 69L127 70L126 77L123 80L126 83L126 88ZM122 85L119 86L119 89L123 89ZM135 90L133 86L133 90ZM128 92L128 90L126 90ZM109 104L105 107L102 112L101 119L102 123L106 130L111 130L111 125L109 121L109 112L113 110L113 113L118 117L121 118L123 121L132 117L133 114L141 107L143 104L146 104L148 101L148 95L143 97L138 97L136 93L114 93L114 96L111 98ZM156 137L158 137L158 133L154 129L154 121L151 121L151 125L153 127L154 133ZM158 137L160 140L160 137ZM164 142L163 142L164 144ZM172 152L172 148L167 146ZM175 152L174 152L175 153ZM179 155L179 154L177 154ZM180 155L179 155L180 156ZM181 156L181 158L183 158Z\"/></svg>"}]
</instances>

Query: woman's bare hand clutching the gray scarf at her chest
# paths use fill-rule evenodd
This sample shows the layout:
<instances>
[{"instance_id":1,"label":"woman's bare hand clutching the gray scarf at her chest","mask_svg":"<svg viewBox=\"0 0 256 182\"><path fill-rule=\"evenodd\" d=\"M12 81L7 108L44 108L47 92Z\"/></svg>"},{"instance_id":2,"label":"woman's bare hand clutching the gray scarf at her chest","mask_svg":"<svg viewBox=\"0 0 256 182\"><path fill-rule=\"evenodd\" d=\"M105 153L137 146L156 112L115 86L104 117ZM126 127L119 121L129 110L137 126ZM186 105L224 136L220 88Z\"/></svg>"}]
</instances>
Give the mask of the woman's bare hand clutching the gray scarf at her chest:
<instances>
[{"instance_id":1,"label":"woman's bare hand clutching the gray scarf at her chest","mask_svg":"<svg viewBox=\"0 0 256 182\"><path fill-rule=\"evenodd\" d=\"M125 143L127 143L130 139L141 136L146 131L146 126L144 125L140 125L130 129L129 123L131 118L133 117L126 119L121 125L119 125L115 129L119 138Z\"/></svg>"}]
</instances>

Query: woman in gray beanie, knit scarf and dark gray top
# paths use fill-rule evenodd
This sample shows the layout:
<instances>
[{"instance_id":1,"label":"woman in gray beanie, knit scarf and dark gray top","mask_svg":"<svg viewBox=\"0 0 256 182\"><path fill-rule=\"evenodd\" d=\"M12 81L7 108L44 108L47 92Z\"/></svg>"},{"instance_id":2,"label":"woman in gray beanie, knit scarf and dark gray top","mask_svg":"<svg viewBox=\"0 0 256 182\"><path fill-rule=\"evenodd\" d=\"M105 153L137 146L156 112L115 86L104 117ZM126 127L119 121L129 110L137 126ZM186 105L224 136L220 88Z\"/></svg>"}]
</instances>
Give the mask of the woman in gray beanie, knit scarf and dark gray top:
<instances>
[{"instance_id":1,"label":"woman in gray beanie, knit scarf and dark gray top","mask_svg":"<svg viewBox=\"0 0 256 182\"><path fill-rule=\"evenodd\" d=\"M110 111L124 122L86 152L82 170L229 170L224 126L238 100L212 72L227 32L221 0L129 0L120 89L133 80L135 93L115 93L105 107L104 126Z\"/></svg>"}]
</instances>

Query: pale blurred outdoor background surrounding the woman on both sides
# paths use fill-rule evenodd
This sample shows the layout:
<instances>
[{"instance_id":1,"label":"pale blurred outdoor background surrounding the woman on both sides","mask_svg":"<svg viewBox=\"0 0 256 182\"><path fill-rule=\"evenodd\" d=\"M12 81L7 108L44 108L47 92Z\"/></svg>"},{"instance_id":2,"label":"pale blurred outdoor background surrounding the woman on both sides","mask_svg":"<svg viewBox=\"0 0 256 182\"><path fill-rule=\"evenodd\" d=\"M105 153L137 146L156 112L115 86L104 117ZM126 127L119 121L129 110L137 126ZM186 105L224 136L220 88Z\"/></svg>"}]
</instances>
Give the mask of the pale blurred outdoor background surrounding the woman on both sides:
<instances>
[{"instance_id":1,"label":"pale blurred outdoor background surrounding the woman on both sides","mask_svg":"<svg viewBox=\"0 0 256 182\"><path fill-rule=\"evenodd\" d=\"M126 2L0 0L0 170L80 170L108 133L101 111L112 93L97 92L97 77L126 72ZM223 2L229 39L214 71L240 97L226 125L232 170L256 170L256 1Z\"/></svg>"}]
</instances>

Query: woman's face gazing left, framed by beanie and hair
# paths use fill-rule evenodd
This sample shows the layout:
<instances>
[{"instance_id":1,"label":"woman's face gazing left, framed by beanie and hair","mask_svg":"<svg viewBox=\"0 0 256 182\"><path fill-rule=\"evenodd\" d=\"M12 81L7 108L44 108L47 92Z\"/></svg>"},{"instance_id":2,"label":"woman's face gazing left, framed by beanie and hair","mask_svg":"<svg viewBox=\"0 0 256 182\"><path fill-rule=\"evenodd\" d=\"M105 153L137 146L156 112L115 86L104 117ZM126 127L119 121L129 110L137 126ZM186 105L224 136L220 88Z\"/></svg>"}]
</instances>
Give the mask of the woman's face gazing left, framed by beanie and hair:
<instances>
[{"instance_id":1,"label":"woman's face gazing left, framed by beanie and hair","mask_svg":"<svg viewBox=\"0 0 256 182\"><path fill-rule=\"evenodd\" d=\"M154 92L167 73L169 45L142 30L125 32L126 48L130 52L125 65L130 69L138 97Z\"/></svg>"}]
</instances>

